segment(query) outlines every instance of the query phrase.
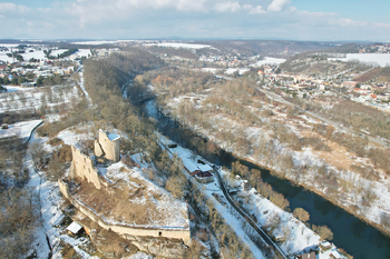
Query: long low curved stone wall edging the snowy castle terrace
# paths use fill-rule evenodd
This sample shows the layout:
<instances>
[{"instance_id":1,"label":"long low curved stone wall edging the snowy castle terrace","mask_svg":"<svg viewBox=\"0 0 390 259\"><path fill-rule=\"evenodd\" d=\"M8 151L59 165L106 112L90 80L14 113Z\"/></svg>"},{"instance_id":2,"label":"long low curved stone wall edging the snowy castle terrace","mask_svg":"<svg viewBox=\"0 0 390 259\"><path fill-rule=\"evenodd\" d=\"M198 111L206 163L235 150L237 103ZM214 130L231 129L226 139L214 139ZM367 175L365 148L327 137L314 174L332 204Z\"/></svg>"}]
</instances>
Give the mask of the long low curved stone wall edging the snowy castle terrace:
<instances>
[{"instance_id":1,"label":"long low curved stone wall edging the snowy castle terrace","mask_svg":"<svg viewBox=\"0 0 390 259\"><path fill-rule=\"evenodd\" d=\"M162 237L168 239L183 240L184 243L188 245L191 240L189 229L177 228L177 229L163 229L163 228L142 228L142 227L129 227L123 225L113 225L106 222L97 213L95 213L90 208L88 208L82 202L75 199L70 192L68 185L62 180L58 180L59 189L64 197L66 197L77 209L85 213L88 218L98 223L101 228L106 230L113 230L114 232L120 235L123 238L133 240L134 237Z\"/></svg>"}]
</instances>

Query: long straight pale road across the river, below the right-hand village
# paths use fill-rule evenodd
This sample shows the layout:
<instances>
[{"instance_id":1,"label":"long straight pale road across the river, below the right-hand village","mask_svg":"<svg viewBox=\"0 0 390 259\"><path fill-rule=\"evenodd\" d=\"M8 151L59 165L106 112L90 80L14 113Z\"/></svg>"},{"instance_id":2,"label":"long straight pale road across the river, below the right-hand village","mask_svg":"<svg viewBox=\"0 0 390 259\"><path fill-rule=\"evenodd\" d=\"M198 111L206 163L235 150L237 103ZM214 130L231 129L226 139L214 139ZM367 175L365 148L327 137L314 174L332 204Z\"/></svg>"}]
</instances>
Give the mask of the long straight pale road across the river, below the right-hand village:
<instances>
[{"instance_id":1,"label":"long straight pale road across the river, below the right-hand village","mask_svg":"<svg viewBox=\"0 0 390 259\"><path fill-rule=\"evenodd\" d=\"M275 100L275 101L279 101L279 102L284 103L284 104L286 104L286 106L295 107L294 103L284 100L282 97L277 96L277 94L274 93L274 92L271 92L271 91L267 91L267 90L264 90L264 89L261 89L261 88L257 88L257 90L261 91L261 92L263 92L264 94L266 94L267 97L272 98L272 99ZM319 116L319 114L316 114L316 113L314 113L314 112L312 112L312 111L304 111L304 110L302 110L302 112L305 113L305 114L308 114L308 116L310 116L310 117L313 117L313 118L315 118L315 119L319 119L319 120L321 120L321 121L324 121L324 122L326 122L328 124L331 124L332 127L334 127L335 129L343 130L343 131L349 132L349 133L351 133L351 135L360 136L360 137L362 137L362 138L364 138L364 139L367 139L367 140L369 140L369 141L371 141L371 142L381 145L381 146L383 146L384 148L390 148L390 143L388 143L388 142L386 142L386 141L379 139L379 138L369 136L369 135L367 135L367 133L364 133L364 132L358 131L358 130L352 129L352 128L349 128L349 127L343 127L343 126L341 126L339 122L335 122L335 121L333 121L333 120L326 119L326 118L324 118L324 117L322 117L322 116Z\"/></svg>"}]
</instances>

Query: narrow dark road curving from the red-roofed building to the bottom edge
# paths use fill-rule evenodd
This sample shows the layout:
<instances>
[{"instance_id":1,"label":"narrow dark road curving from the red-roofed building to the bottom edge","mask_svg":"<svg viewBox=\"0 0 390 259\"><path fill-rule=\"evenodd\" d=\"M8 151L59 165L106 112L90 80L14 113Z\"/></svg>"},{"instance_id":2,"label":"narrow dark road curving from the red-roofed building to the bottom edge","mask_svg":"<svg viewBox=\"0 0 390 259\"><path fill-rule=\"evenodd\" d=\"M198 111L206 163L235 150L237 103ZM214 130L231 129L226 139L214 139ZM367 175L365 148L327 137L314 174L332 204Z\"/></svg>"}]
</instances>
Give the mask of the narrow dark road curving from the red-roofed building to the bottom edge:
<instances>
[{"instance_id":1,"label":"narrow dark road curving from the red-roofed building to the bottom edge","mask_svg":"<svg viewBox=\"0 0 390 259\"><path fill-rule=\"evenodd\" d=\"M218 169L216 169L216 167L214 167L213 169L215 176L217 177L218 179L218 182L220 182L220 186L221 186L221 189L226 198L226 200L228 201L228 203L246 220L246 222L248 225L252 226L252 228L263 238L263 240L271 247L274 248L274 251L276 253L279 253L282 258L287 258L283 250L274 242L272 241L272 239L263 231L263 229L259 228L257 225L251 219L251 217L248 217L234 201L233 199L231 198L231 196L228 195L226 188L225 188L225 185L221 178L221 175L220 175L220 171Z\"/></svg>"}]
</instances>

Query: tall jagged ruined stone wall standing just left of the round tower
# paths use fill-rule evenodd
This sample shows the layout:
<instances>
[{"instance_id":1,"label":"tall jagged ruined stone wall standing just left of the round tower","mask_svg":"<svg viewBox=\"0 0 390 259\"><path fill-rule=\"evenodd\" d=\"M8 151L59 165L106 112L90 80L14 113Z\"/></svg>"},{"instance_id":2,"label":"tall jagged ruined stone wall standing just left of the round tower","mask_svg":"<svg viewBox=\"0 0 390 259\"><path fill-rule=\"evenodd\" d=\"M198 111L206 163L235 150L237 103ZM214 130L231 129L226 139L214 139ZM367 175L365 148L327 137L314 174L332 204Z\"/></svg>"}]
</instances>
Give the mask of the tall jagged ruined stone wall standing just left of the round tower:
<instances>
[{"instance_id":1,"label":"tall jagged ruined stone wall standing just left of the round tower","mask_svg":"<svg viewBox=\"0 0 390 259\"><path fill-rule=\"evenodd\" d=\"M88 182L94 183L96 189L101 188L101 181L99 171L95 168L94 161L88 156L84 155L80 150L71 146L71 155L74 160L71 161L69 178L81 178Z\"/></svg>"}]
</instances>

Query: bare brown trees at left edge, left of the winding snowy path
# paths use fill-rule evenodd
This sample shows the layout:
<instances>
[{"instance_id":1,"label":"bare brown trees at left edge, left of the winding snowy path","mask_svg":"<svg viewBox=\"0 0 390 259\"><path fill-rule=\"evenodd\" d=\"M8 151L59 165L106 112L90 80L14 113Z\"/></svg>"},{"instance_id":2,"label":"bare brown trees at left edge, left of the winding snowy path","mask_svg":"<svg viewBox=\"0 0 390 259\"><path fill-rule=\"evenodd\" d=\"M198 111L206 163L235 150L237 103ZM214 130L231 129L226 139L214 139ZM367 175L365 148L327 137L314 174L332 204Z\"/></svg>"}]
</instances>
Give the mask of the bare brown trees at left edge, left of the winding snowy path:
<instances>
[{"instance_id":1,"label":"bare brown trees at left edge, left of the winding snowy path","mask_svg":"<svg viewBox=\"0 0 390 259\"><path fill-rule=\"evenodd\" d=\"M26 187L26 146L18 138L0 141L0 257L23 258L38 223L37 197Z\"/></svg>"}]
</instances>

